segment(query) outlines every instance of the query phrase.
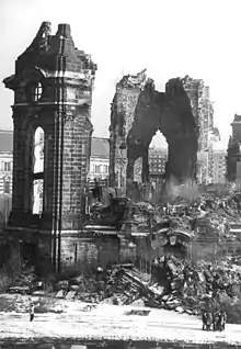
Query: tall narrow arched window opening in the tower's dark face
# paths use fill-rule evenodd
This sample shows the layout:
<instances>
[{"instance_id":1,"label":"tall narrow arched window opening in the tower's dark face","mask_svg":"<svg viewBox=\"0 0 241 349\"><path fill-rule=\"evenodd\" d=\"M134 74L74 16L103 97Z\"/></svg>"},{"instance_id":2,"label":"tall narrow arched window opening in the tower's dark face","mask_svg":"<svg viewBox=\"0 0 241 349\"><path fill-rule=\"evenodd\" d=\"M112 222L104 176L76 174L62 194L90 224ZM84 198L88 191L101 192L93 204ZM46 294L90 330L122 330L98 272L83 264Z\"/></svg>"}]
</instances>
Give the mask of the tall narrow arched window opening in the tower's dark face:
<instances>
[{"instance_id":1,"label":"tall narrow arched window opening in the tower's dark face","mask_svg":"<svg viewBox=\"0 0 241 349\"><path fill-rule=\"evenodd\" d=\"M34 134L32 167L32 213L42 214L44 203L44 130L37 127Z\"/></svg>"}]
</instances>

